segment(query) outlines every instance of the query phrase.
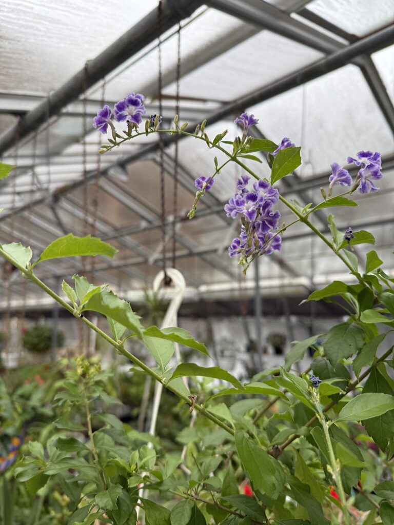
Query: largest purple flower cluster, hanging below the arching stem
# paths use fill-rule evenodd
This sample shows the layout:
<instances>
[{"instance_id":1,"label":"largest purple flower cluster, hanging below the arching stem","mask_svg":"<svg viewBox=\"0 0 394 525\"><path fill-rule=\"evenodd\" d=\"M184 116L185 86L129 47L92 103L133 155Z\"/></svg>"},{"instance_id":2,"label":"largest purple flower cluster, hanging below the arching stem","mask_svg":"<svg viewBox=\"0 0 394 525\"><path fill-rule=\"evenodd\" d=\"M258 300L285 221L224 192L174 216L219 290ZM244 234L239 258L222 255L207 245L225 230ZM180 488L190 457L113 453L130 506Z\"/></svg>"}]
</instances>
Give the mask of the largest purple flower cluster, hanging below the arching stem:
<instances>
[{"instance_id":1,"label":"largest purple flower cluster, hanging below the arching stem","mask_svg":"<svg viewBox=\"0 0 394 525\"><path fill-rule=\"evenodd\" d=\"M267 181L257 181L253 184L253 191L246 185L247 175L242 175L237 181L237 192L224 206L227 217L241 216L241 233L233 239L229 248L229 255L241 254L240 264L244 264L248 257L272 254L281 249L281 236L273 233L278 227L281 214L273 210L273 205L279 201L279 193Z\"/></svg>"}]
</instances>

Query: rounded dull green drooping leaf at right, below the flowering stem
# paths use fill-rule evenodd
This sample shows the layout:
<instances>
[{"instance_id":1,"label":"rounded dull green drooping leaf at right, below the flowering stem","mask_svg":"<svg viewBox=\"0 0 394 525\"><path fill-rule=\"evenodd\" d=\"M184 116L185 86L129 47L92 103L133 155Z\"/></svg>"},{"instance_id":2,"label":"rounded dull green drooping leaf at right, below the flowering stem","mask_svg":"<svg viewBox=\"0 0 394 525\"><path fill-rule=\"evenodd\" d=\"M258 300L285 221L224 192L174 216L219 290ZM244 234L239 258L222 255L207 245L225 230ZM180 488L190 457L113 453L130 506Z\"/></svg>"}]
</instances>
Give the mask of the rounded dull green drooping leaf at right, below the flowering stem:
<instances>
[{"instance_id":1,"label":"rounded dull green drooping leaf at right, below the flowering stem","mask_svg":"<svg viewBox=\"0 0 394 525\"><path fill-rule=\"evenodd\" d=\"M361 350L364 343L364 331L357 324L341 323L328 331L323 348L328 361L335 366L340 359Z\"/></svg>"}]
</instances>

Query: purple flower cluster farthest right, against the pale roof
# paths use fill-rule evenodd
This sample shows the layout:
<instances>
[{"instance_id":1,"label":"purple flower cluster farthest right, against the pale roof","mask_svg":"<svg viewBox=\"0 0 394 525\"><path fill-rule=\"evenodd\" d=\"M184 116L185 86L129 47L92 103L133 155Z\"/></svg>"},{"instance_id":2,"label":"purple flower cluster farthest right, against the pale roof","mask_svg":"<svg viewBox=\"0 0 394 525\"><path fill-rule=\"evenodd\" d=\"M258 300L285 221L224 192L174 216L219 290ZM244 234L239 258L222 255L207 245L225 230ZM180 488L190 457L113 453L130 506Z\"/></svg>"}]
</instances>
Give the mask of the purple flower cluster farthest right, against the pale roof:
<instances>
[{"instance_id":1,"label":"purple flower cluster farthest right, against the pale roof","mask_svg":"<svg viewBox=\"0 0 394 525\"><path fill-rule=\"evenodd\" d=\"M378 187L375 186L373 180L382 178L381 172L382 161L380 153L371 151L359 151L357 153L357 159L348 157L348 164L356 164L359 166L354 190L357 188L360 193L371 193L377 192ZM331 196L334 184L340 184L341 186L351 186L352 179L347 170L343 166L340 166L336 162L331 164L332 174L329 177L328 196Z\"/></svg>"}]
</instances>

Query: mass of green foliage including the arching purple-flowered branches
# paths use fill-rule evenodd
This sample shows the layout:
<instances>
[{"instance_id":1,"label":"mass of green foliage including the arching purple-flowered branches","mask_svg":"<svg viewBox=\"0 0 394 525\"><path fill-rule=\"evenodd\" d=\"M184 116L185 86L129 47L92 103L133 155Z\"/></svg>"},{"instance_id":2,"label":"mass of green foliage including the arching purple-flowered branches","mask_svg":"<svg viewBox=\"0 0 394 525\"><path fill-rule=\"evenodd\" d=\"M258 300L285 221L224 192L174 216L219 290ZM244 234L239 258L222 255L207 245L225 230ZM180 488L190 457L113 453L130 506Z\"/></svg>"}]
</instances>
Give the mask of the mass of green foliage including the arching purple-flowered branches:
<instances>
[{"instance_id":1,"label":"mass of green foliage including the arching purple-flowered branches","mask_svg":"<svg viewBox=\"0 0 394 525\"><path fill-rule=\"evenodd\" d=\"M133 100L139 97L142 108L143 97L132 95ZM122 101L122 108L127 107L129 98ZM165 387L171 403L161 405L162 416L178 413L177 425L184 424L169 442L168 436L160 439L138 432L121 421L115 414L119 401L113 388L108 391L109 372L83 357L74 367L66 367L64 381L55 385L56 393L54 388L32 387L32 383L11 391L0 385L3 433L25 435L17 463L2 477L1 498L11 502L2 507L4 525L22 525L30 518L34 524L91 525L100 520L135 525L141 516L147 525L356 525L361 520L391 524L394 381L390 375L393 348L386 336L394 330L394 279L381 269L383 263L375 250L366 254L365 270L364 262L352 251L353 245L375 244L372 234L364 230L353 233L351 228L342 232L329 215L328 238L309 220L316 210L355 206L352 194L357 189L361 193L376 191L368 177L381 177L379 154L360 152L360 160L349 158L360 165L358 178L348 191L332 197L336 182L351 181L346 170L336 164L329 198L323 190L322 203L301 206L288 202L271 187L299 166L300 148L288 139L276 145L247 137L247 128L256 119L243 114L242 138L224 141L226 131L210 139L204 121L194 133L188 133L187 123L180 125L178 117L171 130L159 129L157 116L146 121L144 132L138 131L140 109L138 118L129 119L127 130L119 135L110 119L110 108L106 108L104 113L100 110L96 119L101 120L96 124L101 132L109 125L112 139L101 152L142 134L167 132L204 141L225 157L220 163L215 156L213 175L200 177L190 217L213 178L228 163L236 163L255 177L258 184L248 197L248 207L242 197L246 183L240 180L237 199L234 197L227 208L230 215L236 216L239 209L245 216L249 214L248 219L242 218L244 244L238 239L232 250L239 251L246 270L254 258L271 253L268 248L273 239L273 249L279 249L278 236L292 224L303 223L350 274L346 282L334 281L305 300L337 302L340 298L338 304L344 308L346 320L325 334L295 342L280 370L263 370L250 381L240 382L214 363L200 366L193 358L174 367L174 343L205 358L209 352L185 330L144 327L130 304L107 285L94 285L75 275L74 286L63 283L66 302L34 274L35 264L48 258L113 256L115 251L100 239L69 234L55 240L33 264L30 248L16 243L2 246L0 254L24 277L131 360L133 374L150 376ZM268 153L272 169L269 183L244 163L245 159L260 162L251 152ZM375 159L375 164L362 164L365 158ZM250 205L261 192L268 191L273 201L280 199L294 220L281 229L272 223L269 227L274 229L258 238L262 226L257 232L253 220L256 214L263 215L260 208L257 211ZM82 315L87 311L108 319L112 337ZM157 366L150 367L149 360L128 350L130 337L146 346ZM299 374L294 364L311 346L316 352L310 368ZM183 381L185 377L189 382ZM192 412L196 413L195 421ZM39 424L34 422L37 415ZM172 424L170 418L164 421Z\"/></svg>"}]
</instances>

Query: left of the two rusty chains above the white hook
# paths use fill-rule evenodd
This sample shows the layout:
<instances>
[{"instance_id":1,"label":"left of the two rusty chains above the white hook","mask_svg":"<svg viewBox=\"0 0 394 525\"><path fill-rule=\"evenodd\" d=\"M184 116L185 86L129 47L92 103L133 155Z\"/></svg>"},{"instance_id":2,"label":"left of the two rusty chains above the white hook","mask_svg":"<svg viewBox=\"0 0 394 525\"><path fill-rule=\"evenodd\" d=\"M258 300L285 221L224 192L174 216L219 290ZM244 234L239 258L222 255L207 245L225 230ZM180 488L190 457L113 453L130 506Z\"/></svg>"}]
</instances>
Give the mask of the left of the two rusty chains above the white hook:
<instances>
[{"instance_id":1,"label":"left of the two rusty chains above the white hook","mask_svg":"<svg viewBox=\"0 0 394 525\"><path fill-rule=\"evenodd\" d=\"M163 100L162 100L162 88L163 88L163 72L162 72L162 57L161 57L161 35L162 35L162 0L159 0L158 5L158 58L159 58L159 115L163 114ZM166 246L167 235L165 232L165 174L164 174L164 142L162 134L159 133L159 153L160 153L160 200L161 200L161 230L162 230L162 256L163 256L163 272L164 282L168 283L166 268Z\"/></svg>"}]
</instances>

